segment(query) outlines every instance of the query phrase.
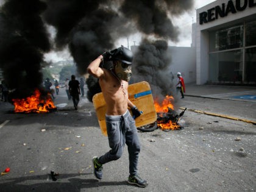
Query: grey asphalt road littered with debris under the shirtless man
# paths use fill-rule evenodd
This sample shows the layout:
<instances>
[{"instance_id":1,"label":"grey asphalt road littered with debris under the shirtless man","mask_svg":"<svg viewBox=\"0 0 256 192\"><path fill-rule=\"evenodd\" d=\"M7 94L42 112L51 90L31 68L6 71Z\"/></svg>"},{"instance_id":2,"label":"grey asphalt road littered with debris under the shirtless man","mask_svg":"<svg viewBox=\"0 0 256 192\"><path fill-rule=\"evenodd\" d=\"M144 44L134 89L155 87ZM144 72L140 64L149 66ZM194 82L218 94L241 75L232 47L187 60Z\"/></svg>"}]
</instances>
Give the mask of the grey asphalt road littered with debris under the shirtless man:
<instances>
[{"instance_id":1,"label":"grey asphalt road littered with debris under the shirtless man","mask_svg":"<svg viewBox=\"0 0 256 192\"><path fill-rule=\"evenodd\" d=\"M109 150L93 104L81 98L78 110L63 89L57 111L16 114L0 102L0 191L255 191L256 129L252 123L196 113L212 112L255 121L255 102L187 96L182 130L139 132L138 170L148 187L127 184L127 148L93 175L91 158ZM178 110L181 112L181 110ZM59 173L53 181L51 171Z\"/></svg>"}]
</instances>

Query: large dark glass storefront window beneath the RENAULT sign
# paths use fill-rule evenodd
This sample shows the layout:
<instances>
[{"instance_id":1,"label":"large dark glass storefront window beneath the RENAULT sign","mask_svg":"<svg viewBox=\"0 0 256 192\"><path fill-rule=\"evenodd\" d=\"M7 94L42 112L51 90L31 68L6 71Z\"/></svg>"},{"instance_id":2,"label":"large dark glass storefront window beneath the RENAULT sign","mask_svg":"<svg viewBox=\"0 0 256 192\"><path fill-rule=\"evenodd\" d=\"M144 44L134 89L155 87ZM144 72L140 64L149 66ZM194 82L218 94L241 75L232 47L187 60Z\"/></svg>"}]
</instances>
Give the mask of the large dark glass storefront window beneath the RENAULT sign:
<instances>
[{"instance_id":1,"label":"large dark glass storefront window beneath the RENAULT sign","mask_svg":"<svg viewBox=\"0 0 256 192\"><path fill-rule=\"evenodd\" d=\"M209 83L256 83L256 21L209 32Z\"/></svg>"}]
</instances>

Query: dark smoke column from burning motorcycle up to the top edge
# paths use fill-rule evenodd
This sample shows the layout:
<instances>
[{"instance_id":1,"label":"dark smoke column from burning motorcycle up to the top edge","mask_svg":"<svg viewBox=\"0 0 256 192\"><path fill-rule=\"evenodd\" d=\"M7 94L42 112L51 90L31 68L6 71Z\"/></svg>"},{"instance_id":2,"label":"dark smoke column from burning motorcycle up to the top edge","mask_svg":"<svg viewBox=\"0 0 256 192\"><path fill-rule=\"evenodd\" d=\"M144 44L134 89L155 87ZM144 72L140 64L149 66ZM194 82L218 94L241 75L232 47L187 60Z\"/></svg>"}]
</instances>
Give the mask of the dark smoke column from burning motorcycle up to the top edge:
<instances>
[{"instance_id":1,"label":"dark smoke column from burning motorcycle up to the top edge","mask_svg":"<svg viewBox=\"0 0 256 192\"><path fill-rule=\"evenodd\" d=\"M126 17L132 18L144 38L135 50L133 82L146 80L151 85L153 96L162 99L173 94L171 71L168 65L168 40L179 40L179 28L174 26L169 15L180 15L191 9L193 1L125 1L121 7ZM153 37L153 38L152 38ZM152 40L153 39L153 40Z\"/></svg>"}]
</instances>

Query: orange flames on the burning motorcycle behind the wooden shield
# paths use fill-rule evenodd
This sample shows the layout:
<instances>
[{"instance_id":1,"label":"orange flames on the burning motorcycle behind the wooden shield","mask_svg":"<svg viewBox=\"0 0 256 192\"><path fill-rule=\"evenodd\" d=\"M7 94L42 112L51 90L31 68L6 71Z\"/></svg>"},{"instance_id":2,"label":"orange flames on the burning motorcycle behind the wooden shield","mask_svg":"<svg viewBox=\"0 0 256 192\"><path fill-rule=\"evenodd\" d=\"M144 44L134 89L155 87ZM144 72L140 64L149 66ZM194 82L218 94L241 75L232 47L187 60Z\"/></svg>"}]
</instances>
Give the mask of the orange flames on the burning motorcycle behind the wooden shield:
<instances>
[{"instance_id":1,"label":"orange flames on the burning motorcycle behind the wooden shield","mask_svg":"<svg viewBox=\"0 0 256 192\"><path fill-rule=\"evenodd\" d=\"M174 105L172 104L174 102L174 98L172 96L165 96L165 99L163 99L162 104L158 103L158 99L154 100L155 105L155 111L157 113L160 113L159 116L161 116L161 113L168 113L168 108L171 108L171 110L174 110ZM162 130L171 129L176 130L180 129L179 124L176 122L172 122L169 120L167 123L162 123L160 121L157 121L157 126L161 127Z\"/></svg>"}]
</instances>

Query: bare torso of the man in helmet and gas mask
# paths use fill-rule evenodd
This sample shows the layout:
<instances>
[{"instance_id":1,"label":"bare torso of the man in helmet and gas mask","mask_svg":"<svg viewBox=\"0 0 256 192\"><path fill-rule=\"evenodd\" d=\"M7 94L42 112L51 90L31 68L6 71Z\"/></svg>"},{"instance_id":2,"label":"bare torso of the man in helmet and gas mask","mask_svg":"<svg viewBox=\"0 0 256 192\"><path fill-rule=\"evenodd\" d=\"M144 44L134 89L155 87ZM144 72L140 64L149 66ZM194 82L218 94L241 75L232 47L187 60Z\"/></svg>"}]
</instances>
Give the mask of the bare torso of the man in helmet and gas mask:
<instances>
[{"instance_id":1,"label":"bare torso of the man in helmet and gas mask","mask_svg":"<svg viewBox=\"0 0 256 192\"><path fill-rule=\"evenodd\" d=\"M119 80L107 69L104 77L99 78L105 102L107 103L107 115L123 115L127 111L128 82Z\"/></svg>"}]
</instances>

